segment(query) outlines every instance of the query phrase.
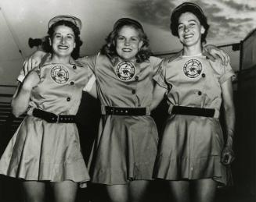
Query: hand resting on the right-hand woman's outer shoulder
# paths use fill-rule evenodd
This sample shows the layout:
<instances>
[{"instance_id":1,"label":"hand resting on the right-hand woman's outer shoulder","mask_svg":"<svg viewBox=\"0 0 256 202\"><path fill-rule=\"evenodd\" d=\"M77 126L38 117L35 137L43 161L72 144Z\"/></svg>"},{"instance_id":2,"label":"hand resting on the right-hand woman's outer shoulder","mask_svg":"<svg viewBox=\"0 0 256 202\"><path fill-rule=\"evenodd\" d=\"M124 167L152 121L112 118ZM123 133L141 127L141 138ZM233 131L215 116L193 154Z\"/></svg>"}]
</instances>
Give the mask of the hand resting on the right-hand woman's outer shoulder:
<instances>
[{"instance_id":1,"label":"hand resting on the right-hand woman's outer shoulder","mask_svg":"<svg viewBox=\"0 0 256 202\"><path fill-rule=\"evenodd\" d=\"M215 61L215 59L220 58L222 60L223 66L227 66L229 64L229 55L225 51L222 51L222 49L219 49L214 45L207 45L204 48L206 50L203 51L203 54L210 58L212 61Z\"/></svg>"}]
</instances>

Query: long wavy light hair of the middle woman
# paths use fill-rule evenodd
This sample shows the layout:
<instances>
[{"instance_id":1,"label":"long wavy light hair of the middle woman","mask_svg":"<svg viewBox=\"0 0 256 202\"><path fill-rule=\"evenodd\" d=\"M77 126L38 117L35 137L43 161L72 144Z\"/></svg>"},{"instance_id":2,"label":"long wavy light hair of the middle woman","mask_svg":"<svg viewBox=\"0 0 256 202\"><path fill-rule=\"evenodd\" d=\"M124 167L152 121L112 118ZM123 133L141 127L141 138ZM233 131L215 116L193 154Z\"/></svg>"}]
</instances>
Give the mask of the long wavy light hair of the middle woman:
<instances>
[{"instance_id":1,"label":"long wavy light hair of the middle woman","mask_svg":"<svg viewBox=\"0 0 256 202\"><path fill-rule=\"evenodd\" d=\"M115 23L114 29L110 32L110 34L106 37L106 44L103 45L103 48L101 48L100 53L103 55L106 55L108 58L110 58L111 62L114 62L115 58L118 57L117 51L116 51L116 41L119 34L119 31L122 27L128 26L133 27L135 30L138 31L140 40L143 41L142 48L140 48L139 52L135 55L136 62L144 62L146 59L150 58L150 55L152 55L152 52L150 51L150 43L149 39L146 36L144 30L142 29L142 26L139 22L134 23L131 21L125 21L121 23ZM139 26L140 25L140 26Z\"/></svg>"}]
</instances>

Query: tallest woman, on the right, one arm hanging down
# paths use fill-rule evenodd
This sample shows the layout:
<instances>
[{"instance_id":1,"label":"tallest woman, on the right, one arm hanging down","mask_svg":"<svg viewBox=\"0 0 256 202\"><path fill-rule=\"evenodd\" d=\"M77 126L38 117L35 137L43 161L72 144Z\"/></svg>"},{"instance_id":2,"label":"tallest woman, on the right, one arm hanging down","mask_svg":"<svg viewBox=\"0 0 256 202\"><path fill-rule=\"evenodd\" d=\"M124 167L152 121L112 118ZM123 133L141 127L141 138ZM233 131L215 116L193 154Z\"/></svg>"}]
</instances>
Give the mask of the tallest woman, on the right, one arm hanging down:
<instances>
[{"instance_id":1,"label":"tallest woman, on the right, one arm hanging down","mask_svg":"<svg viewBox=\"0 0 256 202\"><path fill-rule=\"evenodd\" d=\"M183 49L166 58L154 76L152 108L167 97L170 114L164 127L154 177L168 180L174 201L214 201L216 186L227 183L225 165L233 161L233 105L230 65L202 55L207 18L193 3L179 5L171 15L171 33ZM225 112L224 142L219 122ZM193 192L191 192L193 190ZM193 196L190 198L189 196Z\"/></svg>"}]
</instances>

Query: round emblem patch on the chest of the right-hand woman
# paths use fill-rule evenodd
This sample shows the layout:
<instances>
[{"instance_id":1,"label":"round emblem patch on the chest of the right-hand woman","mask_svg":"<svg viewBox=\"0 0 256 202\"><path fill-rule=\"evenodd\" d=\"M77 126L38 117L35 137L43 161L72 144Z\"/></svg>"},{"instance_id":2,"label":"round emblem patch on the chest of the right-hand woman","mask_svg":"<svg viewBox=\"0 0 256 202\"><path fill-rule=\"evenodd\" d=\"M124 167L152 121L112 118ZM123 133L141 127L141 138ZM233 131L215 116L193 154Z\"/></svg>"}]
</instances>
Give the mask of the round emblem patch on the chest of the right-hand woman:
<instances>
[{"instance_id":1,"label":"round emblem patch on the chest of the right-hand woman","mask_svg":"<svg viewBox=\"0 0 256 202\"><path fill-rule=\"evenodd\" d=\"M183 66L183 72L189 78L196 78L202 72L202 64L197 59L189 59Z\"/></svg>"}]
</instances>

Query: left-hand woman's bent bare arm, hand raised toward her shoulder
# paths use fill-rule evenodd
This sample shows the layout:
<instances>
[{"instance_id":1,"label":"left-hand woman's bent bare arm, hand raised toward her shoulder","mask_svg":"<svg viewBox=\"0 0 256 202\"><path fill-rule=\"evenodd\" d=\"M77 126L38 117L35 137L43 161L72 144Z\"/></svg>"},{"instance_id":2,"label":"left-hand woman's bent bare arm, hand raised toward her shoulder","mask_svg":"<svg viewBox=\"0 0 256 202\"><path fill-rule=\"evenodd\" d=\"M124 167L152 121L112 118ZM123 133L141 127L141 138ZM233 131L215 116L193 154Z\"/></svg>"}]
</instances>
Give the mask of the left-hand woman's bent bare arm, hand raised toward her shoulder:
<instances>
[{"instance_id":1,"label":"left-hand woman's bent bare arm, hand raised toward her shoulder","mask_svg":"<svg viewBox=\"0 0 256 202\"><path fill-rule=\"evenodd\" d=\"M31 97L31 90L38 84L38 82L38 73L32 71L26 76L23 83L20 83L20 85L17 87L15 94L13 95L13 100L11 103L13 108L13 115L19 117L27 111Z\"/></svg>"}]
</instances>

